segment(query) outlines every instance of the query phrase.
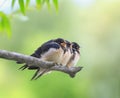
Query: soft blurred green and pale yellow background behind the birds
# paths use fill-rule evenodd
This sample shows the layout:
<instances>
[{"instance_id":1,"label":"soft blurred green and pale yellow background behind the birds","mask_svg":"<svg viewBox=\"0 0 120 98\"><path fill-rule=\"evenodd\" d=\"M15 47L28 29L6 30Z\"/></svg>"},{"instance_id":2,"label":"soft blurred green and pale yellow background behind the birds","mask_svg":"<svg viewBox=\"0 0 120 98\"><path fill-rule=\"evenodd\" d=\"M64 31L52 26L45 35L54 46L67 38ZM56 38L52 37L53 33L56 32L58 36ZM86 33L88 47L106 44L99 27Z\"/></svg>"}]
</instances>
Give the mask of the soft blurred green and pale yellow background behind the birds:
<instances>
[{"instance_id":1,"label":"soft blurred green and pale yellow background behind the birds","mask_svg":"<svg viewBox=\"0 0 120 98\"><path fill-rule=\"evenodd\" d=\"M30 81L34 71L20 71L13 61L0 59L0 98L120 98L120 1L97 0L78 5L61 0L59 11L30 9L11 18L12 36L0 34L0 49L30 55L53 38L81 46L75 78L52 72Z\"/></svg>"}]
</instances>

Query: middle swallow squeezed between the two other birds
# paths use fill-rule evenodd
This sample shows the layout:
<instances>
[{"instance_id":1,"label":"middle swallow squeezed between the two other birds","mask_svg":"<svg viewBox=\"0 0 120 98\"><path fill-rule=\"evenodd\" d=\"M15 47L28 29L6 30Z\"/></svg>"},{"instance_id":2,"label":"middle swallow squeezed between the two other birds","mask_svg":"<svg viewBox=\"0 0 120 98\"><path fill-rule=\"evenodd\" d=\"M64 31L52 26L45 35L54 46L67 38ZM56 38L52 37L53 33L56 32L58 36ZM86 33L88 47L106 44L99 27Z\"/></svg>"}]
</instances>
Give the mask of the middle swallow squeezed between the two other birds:
<instances>
[{"instance_id":1,"label":"middle swallow squeezed between the two other birds","mask_svg":"<svg viewBox=\"0 0 120 98\"><path fill-rule=\"evenodd\" d=\"M62 66L66 66L66 64L68 63L69 59L71 58L71 55L72 55L72 44L65 40L66 41L66 52L63 54L62 56L62 60L61 60L61 65Z\"/></svg>"}]
</instances>

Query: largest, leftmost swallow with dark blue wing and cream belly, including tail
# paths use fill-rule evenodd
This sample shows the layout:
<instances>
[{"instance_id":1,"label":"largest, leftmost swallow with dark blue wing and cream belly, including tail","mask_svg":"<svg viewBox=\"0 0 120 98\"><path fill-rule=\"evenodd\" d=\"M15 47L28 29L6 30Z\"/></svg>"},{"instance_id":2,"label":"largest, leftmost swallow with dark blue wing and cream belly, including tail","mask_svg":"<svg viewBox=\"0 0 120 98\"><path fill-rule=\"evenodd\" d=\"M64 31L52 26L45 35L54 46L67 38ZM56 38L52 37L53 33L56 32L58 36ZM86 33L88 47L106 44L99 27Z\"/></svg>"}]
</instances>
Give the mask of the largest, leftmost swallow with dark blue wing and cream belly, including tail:
<instances>
[{"instance_id":1,"label":"largest, leftmost swallow with dark blue wing and cream belly, including tail","mask_svg":"<svg viewBox=\"0 0 120 98\"><path fill-rule=\"evenodd\" d=\"M61 64L62 56L66 53L66 42L62 38L57 38L53 40L49 40L42 44L31 56L39 58L43 61L50 61L53 63ZM21 63L21 62L17 62ZM38 79L43 74L49 72L49 69L43 69L37 67L35 65L28 65L25 64L24 66L20 67L19 69L26 69L29 70L37 70L36 73L33 75L31 80Z\"/></svg>"}]
</instances>

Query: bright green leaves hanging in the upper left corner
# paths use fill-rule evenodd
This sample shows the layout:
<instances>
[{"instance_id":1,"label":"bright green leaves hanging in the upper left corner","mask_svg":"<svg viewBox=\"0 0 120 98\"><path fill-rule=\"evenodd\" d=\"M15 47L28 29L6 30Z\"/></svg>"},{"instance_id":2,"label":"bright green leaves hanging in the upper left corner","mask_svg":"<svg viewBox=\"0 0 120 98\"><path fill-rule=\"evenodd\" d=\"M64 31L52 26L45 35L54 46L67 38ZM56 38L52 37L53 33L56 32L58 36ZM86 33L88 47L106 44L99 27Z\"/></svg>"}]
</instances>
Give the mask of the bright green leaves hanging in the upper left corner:
<instances>
[{"instance_id":1,"label":"bright green leaves hanging in the upper left corner","mask_svg":"<svg viewBox=\"0 0 120 98\"><path fill-rule=\"evenodd\" d=\"M26 15L26 10L32 0L12 0L11 7L14 8L16 2L19 4L20 11L23 15ZM40 9L45 3L48 5L48 9L50 9L50 0L35 0L36 1L36 8ZM53 4L58 11L58 0L52 0ZM8 36L11 35L11 26L10 26L10 19L7 15L0 11L0 32L6 32Z\"/></svg>"}]
</instances>

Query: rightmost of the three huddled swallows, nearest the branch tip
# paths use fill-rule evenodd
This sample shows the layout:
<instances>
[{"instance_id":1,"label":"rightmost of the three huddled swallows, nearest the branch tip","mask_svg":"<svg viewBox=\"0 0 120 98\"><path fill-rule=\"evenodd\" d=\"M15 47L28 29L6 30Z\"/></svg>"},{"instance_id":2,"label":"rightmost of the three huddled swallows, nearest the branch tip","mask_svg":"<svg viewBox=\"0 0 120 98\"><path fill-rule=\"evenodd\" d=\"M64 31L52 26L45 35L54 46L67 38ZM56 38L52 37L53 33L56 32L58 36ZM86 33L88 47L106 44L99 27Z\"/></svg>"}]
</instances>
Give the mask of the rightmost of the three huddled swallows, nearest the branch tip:
<instances>
[{"instance_id":1,"label":"rightmost of the three huddled swallows, nearest the branch tip","mask_svg":"<svg viewBox=\"0 0 120 98\"><path fill-rule=\"evenodd\" d=\"M75 66L80 58L80 46L76 42L72 42L72 55L67 63L67 67Z\"/></svg>"}]
</instances>

